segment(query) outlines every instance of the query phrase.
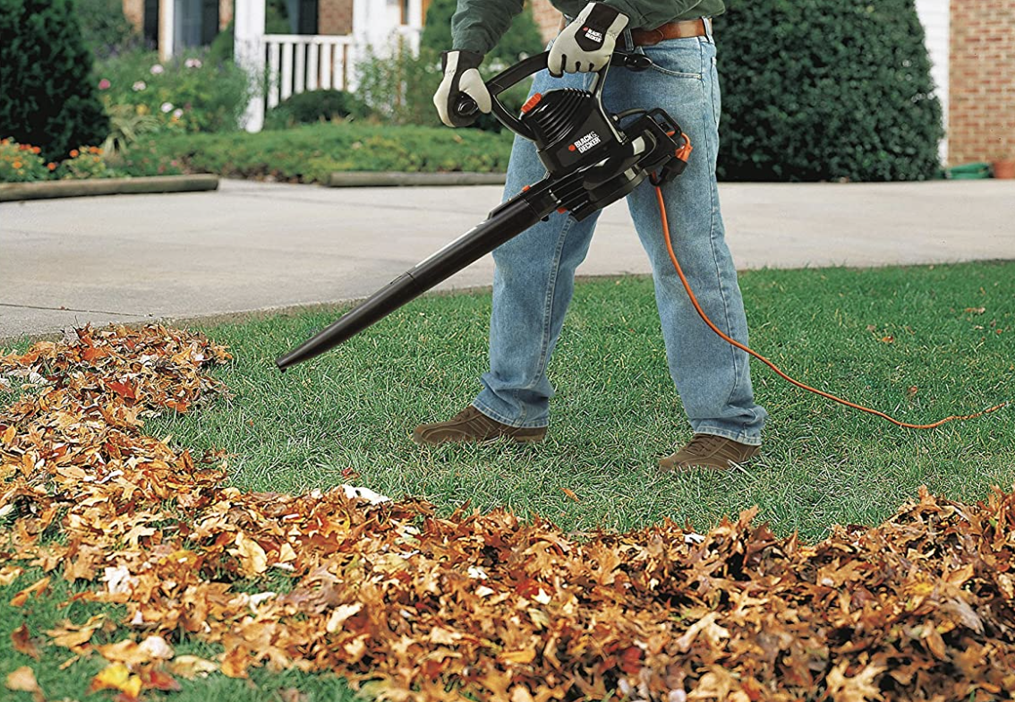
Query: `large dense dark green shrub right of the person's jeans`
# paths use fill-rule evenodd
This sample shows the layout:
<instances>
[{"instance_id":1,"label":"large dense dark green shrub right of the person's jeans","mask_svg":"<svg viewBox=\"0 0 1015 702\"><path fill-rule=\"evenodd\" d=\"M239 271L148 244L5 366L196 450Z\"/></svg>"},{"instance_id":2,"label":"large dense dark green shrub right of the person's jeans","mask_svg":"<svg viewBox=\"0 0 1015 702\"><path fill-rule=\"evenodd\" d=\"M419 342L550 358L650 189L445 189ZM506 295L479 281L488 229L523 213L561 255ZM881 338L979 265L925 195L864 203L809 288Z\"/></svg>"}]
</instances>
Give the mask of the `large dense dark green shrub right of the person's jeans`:
<instances>
[{"instance_id":1,"label":"large dense dark green shrub right of the person's jeans","mask_svg":"<svg viewBox=\"0 0 1015 702\"><path fill-rule=\"evenodd\" d=\"M937 174L941 106L913 0L730 0L716 35L721 178Z\"/></svg>"}]
</instances>

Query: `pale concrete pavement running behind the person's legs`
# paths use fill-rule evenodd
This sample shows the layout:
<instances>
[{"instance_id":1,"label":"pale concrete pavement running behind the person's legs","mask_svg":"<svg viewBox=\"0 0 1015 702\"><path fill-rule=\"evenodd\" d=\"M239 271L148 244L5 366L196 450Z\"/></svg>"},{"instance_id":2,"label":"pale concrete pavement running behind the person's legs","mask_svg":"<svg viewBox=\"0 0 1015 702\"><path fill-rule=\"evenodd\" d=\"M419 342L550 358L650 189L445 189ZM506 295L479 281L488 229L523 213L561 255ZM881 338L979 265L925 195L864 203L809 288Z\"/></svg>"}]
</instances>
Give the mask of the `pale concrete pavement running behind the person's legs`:
<instances>
[{"instance_id":1,"label":"pale concrete pavement running behind the person's legs","mask_svg":"<svg viewBox=\"0 0 1015 702\"><path fill-rule=\"evenodd\" d=\"M1015 259L1015 181L726 184L739 268ZM364 297L485 218L498 186L216 192L0 205L0 339ZM443 288L489 284L487 256ZM647 273L626 207L579 273Z\"/></svg>"}]
</instances>

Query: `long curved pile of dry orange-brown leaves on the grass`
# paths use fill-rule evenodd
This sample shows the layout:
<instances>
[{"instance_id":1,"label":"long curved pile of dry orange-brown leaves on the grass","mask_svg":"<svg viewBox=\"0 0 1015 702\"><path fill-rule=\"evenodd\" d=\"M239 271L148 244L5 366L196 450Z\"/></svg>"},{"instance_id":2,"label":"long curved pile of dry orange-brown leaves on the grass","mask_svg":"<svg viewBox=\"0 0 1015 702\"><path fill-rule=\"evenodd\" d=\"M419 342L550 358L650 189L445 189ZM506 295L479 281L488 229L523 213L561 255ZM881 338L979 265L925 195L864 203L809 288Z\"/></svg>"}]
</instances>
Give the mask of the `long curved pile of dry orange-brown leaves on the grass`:
<instances>
[{"instance_id":1,"label":"long curved pile of dry orange-brown leaves on the grass","mask_svg":"<svg viewBox=\"0 0 1015 702\"><path fill-rule=\"evenodd\" d=\"M394 700L1015 690L1015 494L969 506L923 493L880 526L804 546L753 511L703 537L667 522L579 540L500 510L437 518L340 489L243 493L213 459L142 429L147 412L193 409L217 389L202 369L228 358L151 326L0 359L0 382L32 388L0 413L0 581L41 565L48 577L13 604L62 577L126 605L122 621L46 632L69 655L109 659L92 689L132 699L178 676L267 665L338 671ZM288 591L257 591L279 573ZM92 644L100 629L116 642ZM39 634L11 635L24 650ZM180 636L223 653L177 656Z\"/></svg>"}]
</instances>

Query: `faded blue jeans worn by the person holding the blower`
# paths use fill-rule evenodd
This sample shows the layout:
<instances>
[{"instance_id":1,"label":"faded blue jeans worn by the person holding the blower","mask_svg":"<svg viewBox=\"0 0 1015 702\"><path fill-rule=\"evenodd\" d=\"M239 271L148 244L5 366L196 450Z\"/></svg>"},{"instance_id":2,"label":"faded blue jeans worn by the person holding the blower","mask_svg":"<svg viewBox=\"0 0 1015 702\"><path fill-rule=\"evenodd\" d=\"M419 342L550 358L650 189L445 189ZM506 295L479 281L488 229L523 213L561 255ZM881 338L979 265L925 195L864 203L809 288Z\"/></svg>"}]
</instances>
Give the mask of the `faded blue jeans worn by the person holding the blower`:
<instances>
[{"instance_id":1,"label":"faded blue jeans worn by the person holding the blower","mask_svg":"<svg viewBox=\"0 0 1015 702\"><path fill-rule=\"evenodd\" d=\"M631 49L627 33L617 43L618 50L625 48ZM640 73L611 69L603 103L613 113L663 108L690 137L694 148L687 169L663 190L674 250L705 314L746 344L747 320L724 238L716 185L720 115L716 45L710 37L700 37L669 40L644 51L654 66ZM542 71L532 91L586 87L589 81L587 73L554 78ZM535 145L516 137L505 198L545 174ZM691 306L667 253L655 189L648 180L627 196L627 205L652 265L670 375L692 431L760 444L767 413L754 403L748 357L717 336ZM555 213L493 252L490 370L473 401L487 417L513 427L549 424L553 385L546 366L571 300L574 270L589 251L597 217L598 212L576 221Z\"/></svg>"}]
</instances>

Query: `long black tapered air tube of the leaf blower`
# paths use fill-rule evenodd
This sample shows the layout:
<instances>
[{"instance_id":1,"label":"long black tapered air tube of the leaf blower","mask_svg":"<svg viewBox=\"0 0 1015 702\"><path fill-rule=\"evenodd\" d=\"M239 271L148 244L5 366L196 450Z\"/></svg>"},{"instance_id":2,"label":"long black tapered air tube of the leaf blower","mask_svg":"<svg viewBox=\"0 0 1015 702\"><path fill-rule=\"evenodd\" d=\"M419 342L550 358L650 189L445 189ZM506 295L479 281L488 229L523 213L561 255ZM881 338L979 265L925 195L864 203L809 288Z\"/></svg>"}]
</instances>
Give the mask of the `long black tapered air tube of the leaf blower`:
<instances>
[{"instance_id":1,"label":"long black tapered air tube of the leaf blower","mask_svg":"<svg viewBox=\"0 0 1015 702\"><path fill-rule=\"evenodd\" d=\"M492 212L489 219L399 275L296 348L280 356L275 365L284 371L334 348L522 234L546 214L534 209L522 197L505 202Z\"/></svg>"}]
</instances>

